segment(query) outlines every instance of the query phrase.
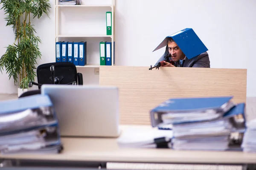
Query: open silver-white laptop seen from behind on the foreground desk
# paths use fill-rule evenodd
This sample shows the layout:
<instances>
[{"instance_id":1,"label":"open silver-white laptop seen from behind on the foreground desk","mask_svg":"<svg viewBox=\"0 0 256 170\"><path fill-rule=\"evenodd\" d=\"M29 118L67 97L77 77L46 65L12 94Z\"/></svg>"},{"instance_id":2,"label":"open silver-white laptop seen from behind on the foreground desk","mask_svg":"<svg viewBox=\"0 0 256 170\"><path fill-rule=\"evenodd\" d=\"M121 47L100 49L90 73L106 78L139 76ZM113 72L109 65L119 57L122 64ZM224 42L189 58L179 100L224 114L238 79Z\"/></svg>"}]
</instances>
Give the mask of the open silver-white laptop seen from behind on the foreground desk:
<instances>
[{"instance_id":1,"label":"open silver-white laptop seen from behind on the foreground desk","mask_svg":"<svg viewBox=\"0 0 256 170\"><path fill-rule=\"evenodd\" d=\"M61 136L119 136L119 91L99 85L42 85L58 117Z\"/></svg>"}]
</instances>

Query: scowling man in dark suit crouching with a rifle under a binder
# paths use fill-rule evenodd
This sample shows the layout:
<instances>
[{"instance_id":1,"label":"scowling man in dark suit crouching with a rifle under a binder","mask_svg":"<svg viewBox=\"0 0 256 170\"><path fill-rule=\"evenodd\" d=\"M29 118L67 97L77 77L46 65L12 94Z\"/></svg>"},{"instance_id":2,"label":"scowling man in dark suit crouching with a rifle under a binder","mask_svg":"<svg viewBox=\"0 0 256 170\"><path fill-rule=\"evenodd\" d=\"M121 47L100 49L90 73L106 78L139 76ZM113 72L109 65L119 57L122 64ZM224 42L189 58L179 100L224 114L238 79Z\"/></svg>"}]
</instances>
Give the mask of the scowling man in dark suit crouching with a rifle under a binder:
<instances>
[{"instance_id":1,"label":"scowling man in dark suit crouching with a rifle under a binder","mask_svg":"<svg viewBox=\"0 0 256 170\"><path fill-rule=\"evenodd\" d=\"M176 42L169 37L167 39L167 46L166 51L163 54L162 57L157 61L163 61L165 60L165 56L168 54L171 54L171 57L169 57L170 60L174 61L175 64L172 65L169 62L164 62L165 65L163 67L204 67L204 68L210 68L210 60L207 52L204 52L202 54L199 54L196 57L193 57L191 59L186 58L186 55L181 51L179 46L176 44Z\"/></svg>"}]
</instances>

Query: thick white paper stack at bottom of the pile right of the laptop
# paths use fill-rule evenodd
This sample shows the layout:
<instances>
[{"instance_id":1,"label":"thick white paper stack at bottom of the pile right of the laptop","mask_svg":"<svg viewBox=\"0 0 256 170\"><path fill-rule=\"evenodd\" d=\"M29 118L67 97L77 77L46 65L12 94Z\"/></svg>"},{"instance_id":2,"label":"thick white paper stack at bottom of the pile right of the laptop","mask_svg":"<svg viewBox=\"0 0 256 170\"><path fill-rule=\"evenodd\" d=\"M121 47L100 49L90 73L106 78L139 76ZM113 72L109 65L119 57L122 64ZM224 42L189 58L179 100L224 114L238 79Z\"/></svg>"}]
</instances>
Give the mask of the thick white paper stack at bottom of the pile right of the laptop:
<instances>
[{"instance_id":1,"label":"thick white paper stack at bottom of the pile right of the laptop","mask_svg":"<svg viewBox=\"0 0 256 170\"><path fill-rule=\"evenodd\" d=\"M194 125L193 125L194 124ZM230 124L227 121L174 125L173 148L186 150L226 150Z\"/></svg>"}]
</instances>

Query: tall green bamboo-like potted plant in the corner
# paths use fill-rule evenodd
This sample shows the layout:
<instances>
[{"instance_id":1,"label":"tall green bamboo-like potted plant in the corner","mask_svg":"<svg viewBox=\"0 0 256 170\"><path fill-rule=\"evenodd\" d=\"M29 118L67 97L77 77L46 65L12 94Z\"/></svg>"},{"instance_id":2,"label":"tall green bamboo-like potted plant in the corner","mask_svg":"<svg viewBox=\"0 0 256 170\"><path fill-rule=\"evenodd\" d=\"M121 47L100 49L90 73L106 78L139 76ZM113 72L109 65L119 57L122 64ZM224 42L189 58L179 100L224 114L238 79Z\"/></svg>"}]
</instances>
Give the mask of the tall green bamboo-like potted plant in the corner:
<instances>
[{"instance_id":1,"label":"tall green bamboo-like potted plant in the corner","mask_svg":"<svg viewBox=\"0 0 256 170\"><path fill-rule=\"evenodd\" d=\"M27 89L30 81L36 77L35 66L41 59L38 43L41 40L36 36L32 20L39 19L43 13L49 13L49 0L0 0L6 15L6 26L12 26L14 43L6 47L6 52L0 58L0 71L6 69L9 79L13 77L14 84L18 83L18 93ZM49 17L49 16L48 16ZM19 95L19 94L18 94Z\"/></svg>"}]
</instances>

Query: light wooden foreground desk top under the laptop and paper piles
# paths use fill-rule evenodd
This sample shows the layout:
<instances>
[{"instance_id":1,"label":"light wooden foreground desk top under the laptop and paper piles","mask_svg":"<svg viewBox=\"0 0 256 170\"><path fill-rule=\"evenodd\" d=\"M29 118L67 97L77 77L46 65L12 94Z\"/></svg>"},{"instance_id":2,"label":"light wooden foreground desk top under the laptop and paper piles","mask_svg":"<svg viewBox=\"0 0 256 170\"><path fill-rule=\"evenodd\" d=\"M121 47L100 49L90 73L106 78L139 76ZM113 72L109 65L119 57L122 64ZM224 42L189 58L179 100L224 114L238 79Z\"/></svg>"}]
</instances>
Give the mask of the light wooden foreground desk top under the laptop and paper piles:
<instances>
[{"instance_id":1,"label":"light wooden foreground desk top under the laptop and paper piles","mask_svg":"<svg viewBox=\"0 0 256 170\"><path fill-rule=\"evenodd\" d=\"M123 132L129 126L122 126ZM151 128L149 126L145 128ZM62 164L63 166L95 167L106 162L178 163L178 164L256 164L256 154L234 151L185 151L151 148L120 148L115 138L63 137L60 154L2 155L0 159L25 161L29 164ZM18 163L20 164L20 162Z\"/></svg>"}]
</instances>

